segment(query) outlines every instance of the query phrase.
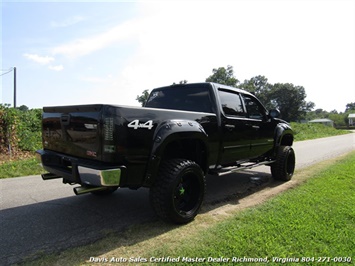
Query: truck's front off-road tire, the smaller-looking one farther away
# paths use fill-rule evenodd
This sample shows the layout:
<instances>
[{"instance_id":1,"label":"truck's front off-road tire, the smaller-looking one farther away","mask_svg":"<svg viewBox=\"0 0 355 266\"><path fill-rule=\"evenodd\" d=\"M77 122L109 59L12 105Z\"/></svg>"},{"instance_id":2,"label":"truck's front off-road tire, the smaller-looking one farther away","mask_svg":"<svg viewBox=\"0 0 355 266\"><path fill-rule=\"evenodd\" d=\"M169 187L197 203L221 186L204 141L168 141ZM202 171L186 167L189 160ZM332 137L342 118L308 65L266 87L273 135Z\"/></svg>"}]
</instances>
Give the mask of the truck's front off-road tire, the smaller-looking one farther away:
<instances>
[{"instance_id":1,"label":"truck's front off-road tire, the smaller-looking one farther away","mask_svg":"<svg viewBox=\"0 0 355 266\"><path fill-rule=\"evenodd\" d=\"M289 181L295 171L296 156L290 146L280 146L276 162L271 164L271 174L276 180Z\"/></svg>"}]
</instances>

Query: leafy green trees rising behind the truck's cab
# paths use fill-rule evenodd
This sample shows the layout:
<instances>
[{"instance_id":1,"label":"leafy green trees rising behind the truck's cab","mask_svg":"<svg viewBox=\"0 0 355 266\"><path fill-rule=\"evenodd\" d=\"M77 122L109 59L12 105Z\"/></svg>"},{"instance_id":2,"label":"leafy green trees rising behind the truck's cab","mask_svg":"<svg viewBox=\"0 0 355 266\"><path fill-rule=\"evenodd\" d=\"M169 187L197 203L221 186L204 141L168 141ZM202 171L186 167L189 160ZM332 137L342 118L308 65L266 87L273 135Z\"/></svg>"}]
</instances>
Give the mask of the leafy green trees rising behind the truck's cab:
<instances>
[{"instance_id":1,"label":"leafy green trees rising behind the truck's cab","mask_svg":"<svg viewBox=\"0 0 355 266\"><path fill-rule=\"evenodd\" d=\"M292 83L271 84L268 82L268 79L262 75L241 82L235 77L233 67L230 65L226 68L214 68L212 74L208 76L205 81L246 90L259 98L266 109L279 109L282 116L281 118L286 121L299 122L313 118L329 118L332 119L335 124L345 126L347 114L351 111L355 111L355 102L346 105L345 113L338 113L336 110L328 113L322 109L313 111L315 103L306 101L307 94L303 86L296 86ZM184 84L187 83L187 81L183 80L179 83ZM145 90L142 95L137 96L136 100L144 105L148 97L149 92Z\"/></svg>"}]
</instances>

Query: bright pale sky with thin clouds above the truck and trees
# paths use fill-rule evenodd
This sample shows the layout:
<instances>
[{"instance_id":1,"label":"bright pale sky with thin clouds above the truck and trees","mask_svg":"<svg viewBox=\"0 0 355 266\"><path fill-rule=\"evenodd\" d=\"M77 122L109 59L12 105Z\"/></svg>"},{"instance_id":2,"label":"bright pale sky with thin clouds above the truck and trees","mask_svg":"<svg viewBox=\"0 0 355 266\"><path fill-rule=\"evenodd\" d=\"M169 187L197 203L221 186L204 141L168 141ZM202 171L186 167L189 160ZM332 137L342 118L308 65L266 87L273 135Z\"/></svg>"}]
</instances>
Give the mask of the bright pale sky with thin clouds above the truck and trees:
<instances>
[{"instance_id":1,"label":"bright pale sky with thin clouds above the truck and trees","mask_svg":"<svg viewBox=\"0 0 355 266\"><path fill-rule=\"evenodd\" d=\"M240 81L303 86L327 111L355 102L355 1L4 1L1 72L17 69L17 106L139 105L143 90ZM13 71L0 77L13 104Z\"/></svg>"}]
</instances>

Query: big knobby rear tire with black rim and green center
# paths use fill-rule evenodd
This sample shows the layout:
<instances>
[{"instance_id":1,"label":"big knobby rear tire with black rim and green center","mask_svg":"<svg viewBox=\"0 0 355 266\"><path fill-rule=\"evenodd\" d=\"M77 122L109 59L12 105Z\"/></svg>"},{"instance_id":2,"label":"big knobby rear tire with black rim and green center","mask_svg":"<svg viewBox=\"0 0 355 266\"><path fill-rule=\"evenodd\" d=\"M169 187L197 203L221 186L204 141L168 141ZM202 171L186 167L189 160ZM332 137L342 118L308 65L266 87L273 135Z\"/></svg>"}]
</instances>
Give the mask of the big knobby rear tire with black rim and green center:
<instances>
[{"instance_id":1,"label":"big knobby rear tire with black rim and green center","mask_svg":"<svg viewBox=\"0 0 355 266\"><path fill-rule=\"evenodd\" d=\"M186 159L163 161L150 202L164 221L186 224L198 214L206 191L206 180L200 166Z\"/></svg>"}]
</instances>

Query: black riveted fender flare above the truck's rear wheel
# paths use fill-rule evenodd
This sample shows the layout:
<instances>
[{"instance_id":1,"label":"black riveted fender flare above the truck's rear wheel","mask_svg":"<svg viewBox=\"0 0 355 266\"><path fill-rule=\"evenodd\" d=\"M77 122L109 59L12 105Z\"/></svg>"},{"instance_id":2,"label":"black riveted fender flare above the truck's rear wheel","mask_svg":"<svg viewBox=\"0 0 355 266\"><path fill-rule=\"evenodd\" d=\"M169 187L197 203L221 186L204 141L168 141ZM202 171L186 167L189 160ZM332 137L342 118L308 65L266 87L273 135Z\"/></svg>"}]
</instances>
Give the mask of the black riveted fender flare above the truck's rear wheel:
<instances>
[{"instance_id":1,"label":"black riveted fender flare above the truck's rear wheel","mask_svg":"<svg viewBox=\"0 0 355 266\"><path fill-rule=\"evenodd\" d=\"M151 186L158 174L159 166L166 147L183 139L195 139L201 141L206 147L208 158L208 134L198 122L194 120L168 120L161 123L153 136L153 146L146 169L144 185ZM206 172L206 169L203 169Z\"/></svg>"}]
</instances>

